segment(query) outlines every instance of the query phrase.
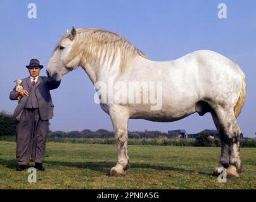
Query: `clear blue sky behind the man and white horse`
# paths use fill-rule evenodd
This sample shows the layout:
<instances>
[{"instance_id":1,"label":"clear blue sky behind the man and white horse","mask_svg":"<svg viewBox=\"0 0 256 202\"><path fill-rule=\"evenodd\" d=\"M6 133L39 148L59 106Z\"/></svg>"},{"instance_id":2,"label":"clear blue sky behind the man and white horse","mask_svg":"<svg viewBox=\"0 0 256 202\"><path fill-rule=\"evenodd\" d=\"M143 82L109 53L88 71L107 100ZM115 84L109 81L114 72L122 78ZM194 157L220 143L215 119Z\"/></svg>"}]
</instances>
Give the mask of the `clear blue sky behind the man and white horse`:
<instances>
[{"instance_id":1,"label":"clear blue sky behind the man and white horse","mask_svg":"<svg viewBox=\"0 0 256 202\"><path fill-rule=\"evenodd\" d=\"M29 19L29 3L37 18ZM219 19L219 3L227 5L227 19ZM0 0L0 110L13 112L9 100L16 78L25 78L25 65L33 57L44 66L60 37L76 28L105 28L116 32L151 60L168 61L200 49L214 50L238 62L246 74L246 103L238 122L245 136L255 136L256 109L256 1L10 1ZM45 76L45 68L42 69ZM54 117L51 130L112 129L110 117L94 103L94 88L78 68L65 75L60 88L51 92ZM210 114L160 123L130 120L129 130L186 129L196 133L215 129Z\"/></svg>"}]
</instances>

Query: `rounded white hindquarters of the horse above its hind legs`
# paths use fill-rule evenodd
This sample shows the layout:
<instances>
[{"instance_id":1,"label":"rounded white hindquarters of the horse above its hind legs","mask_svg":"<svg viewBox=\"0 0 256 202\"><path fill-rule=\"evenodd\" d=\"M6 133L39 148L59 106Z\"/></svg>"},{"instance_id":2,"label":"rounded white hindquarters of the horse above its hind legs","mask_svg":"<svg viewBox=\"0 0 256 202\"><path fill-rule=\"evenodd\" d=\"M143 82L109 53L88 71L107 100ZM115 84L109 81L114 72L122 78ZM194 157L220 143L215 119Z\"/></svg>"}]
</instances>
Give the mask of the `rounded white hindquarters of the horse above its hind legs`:
<instances>
[{"instance_id":1,"label":"rounded white hindquarters of the horse above its hind legs","mask_svg":"<svg viewBox=\"0 0 256 202\"><path fill-rule=\"evenodd\" d=\"M214 105L217 102L236 104L242 78L241 69L235 62L212 50L197 50L188 57L196 61L200 98Z\"/></svg>"}]
</instances>

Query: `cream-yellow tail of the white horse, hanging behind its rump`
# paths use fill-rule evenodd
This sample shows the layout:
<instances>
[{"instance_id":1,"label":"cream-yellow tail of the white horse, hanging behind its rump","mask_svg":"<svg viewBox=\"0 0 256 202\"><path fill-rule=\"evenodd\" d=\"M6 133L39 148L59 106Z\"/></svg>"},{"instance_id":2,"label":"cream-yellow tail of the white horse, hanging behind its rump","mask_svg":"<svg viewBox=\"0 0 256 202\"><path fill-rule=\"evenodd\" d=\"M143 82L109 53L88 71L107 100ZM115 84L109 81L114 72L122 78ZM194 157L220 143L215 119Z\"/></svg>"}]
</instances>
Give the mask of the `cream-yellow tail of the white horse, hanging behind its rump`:
<instances>
[{"instance_id":1,"label":"cream-yellow tail of the white horse, hanging behind its rump","mask_svg":"<svg viewBox=\"0 0 256 202\"><path fill-rule=\"evenodd\" d=\"M245 104L245 97L246 97L246 78L245 73L241 70L241 68L236 64L236 67L238 69L238 72L241 75L242 78L242 86L241 86L241 92L238 98L238 101L236 102L236 105L234 105L234 116L237 118L239 114L241 113L241 110L243 108L243 105Z\"/></svg>"}]
</instances>

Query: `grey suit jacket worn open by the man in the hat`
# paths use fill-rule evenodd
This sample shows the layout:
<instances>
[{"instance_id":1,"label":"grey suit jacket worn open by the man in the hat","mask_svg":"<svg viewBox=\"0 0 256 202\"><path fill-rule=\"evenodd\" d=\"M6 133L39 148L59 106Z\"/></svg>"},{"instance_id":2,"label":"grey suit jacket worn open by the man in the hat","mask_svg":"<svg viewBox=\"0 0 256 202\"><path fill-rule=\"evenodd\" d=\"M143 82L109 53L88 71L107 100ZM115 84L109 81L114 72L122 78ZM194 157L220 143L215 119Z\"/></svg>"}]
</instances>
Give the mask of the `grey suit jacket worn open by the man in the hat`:
<instances>
[{"instance_id":1,"label":"grey suit jacket worn open by the man in the hat","mask_svg":"<svg viewBox=\"0 0 256 202\"><path fill-rule=\"evenodd\" d=\"M32 86L30 76L22 79L22 86L25 90L29 92L30 95L30 90L32 89L30 88ZM58 88L58 86L60 86L60 81L49 80L47 76L39 76L37 83L35 83L35 95L39 104L40 117L43 121L51 119L53 117L54 105L53 101L51 100L50 90ZM10 93L10 99L18 100L16 95L17 92L15 91L15 88L13 88L13 91L11 91ZM28 98L28 96L23 96L19 100L18 105L13 112L13 117L17 117L22 112Z\"/></svg>"}]
</instances>

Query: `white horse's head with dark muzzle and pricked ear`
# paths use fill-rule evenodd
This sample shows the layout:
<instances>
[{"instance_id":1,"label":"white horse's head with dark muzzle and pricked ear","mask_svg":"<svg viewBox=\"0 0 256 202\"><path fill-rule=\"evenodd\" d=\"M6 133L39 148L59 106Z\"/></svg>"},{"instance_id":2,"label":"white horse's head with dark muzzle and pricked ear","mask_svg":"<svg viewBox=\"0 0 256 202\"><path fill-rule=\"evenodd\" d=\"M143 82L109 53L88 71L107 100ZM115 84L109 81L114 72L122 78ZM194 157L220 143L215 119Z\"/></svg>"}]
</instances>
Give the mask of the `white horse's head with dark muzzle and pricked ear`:
<instances>
[{"instance_id":1,"label":"white horse's head with dark muzzle and pricked ear","mask_svg":"<svg viewBox=\"0 0 256 202\"><path fill-rule=\"evenodd\" d=\"M61 76L79 66L80 56L72 54L76 33L75 28L72 27L72 30L61 38L54 49L46 68L46 74L53 80L60 81Z\"/></svg>"}]
</instances>

